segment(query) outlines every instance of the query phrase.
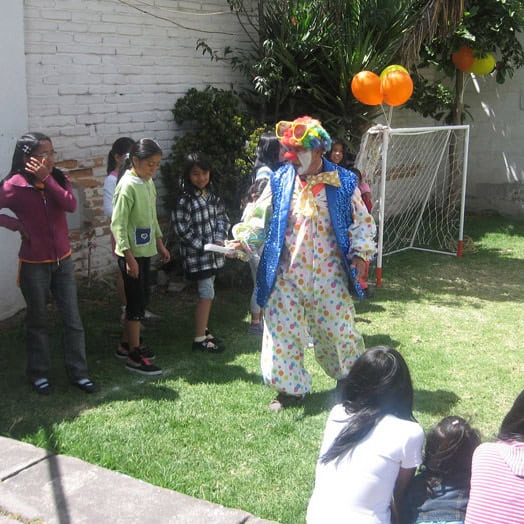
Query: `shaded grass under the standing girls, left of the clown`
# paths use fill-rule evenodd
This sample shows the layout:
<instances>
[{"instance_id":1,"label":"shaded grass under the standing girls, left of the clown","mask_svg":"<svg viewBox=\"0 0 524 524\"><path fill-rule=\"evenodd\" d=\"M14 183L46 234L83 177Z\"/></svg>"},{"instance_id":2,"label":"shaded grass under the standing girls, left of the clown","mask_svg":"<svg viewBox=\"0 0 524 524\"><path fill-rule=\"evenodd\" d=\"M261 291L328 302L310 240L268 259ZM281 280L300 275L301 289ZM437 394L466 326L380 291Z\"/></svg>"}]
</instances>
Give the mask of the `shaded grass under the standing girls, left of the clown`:
<instances>
[{"instance_id":1,"label":"shaded grass under the standing girls, left of the clown","mask_svg":"<svg viewBox=\"0 0 524 524\"><path fill-rule=\"evenodd\" d=\"M125 369L125 360L114 356L121 335L120 308L116 293L109 291L96 282L88 288L79 286L90 378L98 386L98 391L92 395L74 388L67 380L61 321L54 308L49 310L52 364L48 375L51 395L48 397L31 391L25 378L25 315L2 325L0 347L4 365L0 369L0 434L18 440L30 439L41 447L57 451L60 438L55 428L104 404L177 401L179 380L188 384L227 384L239 380L260 384L258 368L250 372L234 363L242 353L258 352L260 340L247 334L239 337L239 333L247 331L247 324L239 318L238 305L231 305L227 295L218 298L213 317L217 326L223 326L219 336L225 340L227 349L222 354L211 355L192 351L194 297L155 293L152 310L162 319L146 323L144 339L157 355L154 363L164 373L159 377L130 373ZM233 310L236 310L234 314Z\"/></svg>"}]
</instances>

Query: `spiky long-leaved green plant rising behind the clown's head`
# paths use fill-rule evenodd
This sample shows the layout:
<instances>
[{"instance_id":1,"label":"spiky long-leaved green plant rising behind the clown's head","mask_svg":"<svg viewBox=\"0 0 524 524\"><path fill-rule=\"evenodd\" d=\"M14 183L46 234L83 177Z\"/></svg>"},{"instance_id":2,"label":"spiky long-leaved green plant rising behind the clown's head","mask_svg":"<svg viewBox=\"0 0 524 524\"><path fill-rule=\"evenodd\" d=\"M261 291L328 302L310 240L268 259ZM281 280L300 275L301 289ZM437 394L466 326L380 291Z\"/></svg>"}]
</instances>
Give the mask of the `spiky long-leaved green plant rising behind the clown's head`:
<instances>
[{"instance_id":1,"label":"spiky long-leaved green plant rising behind the clown's head","mask_svg":"<svg viewBox=\"0 0 524 524\"><path fill-rule=\"evenodd\" d=\"M355 100L353 76L418 56L414 48L420 34L447 34L459 19L462 2L259 0L253 11L251 2L229 4L251 37L251 48L227 48L219 55L204 41L199 47L214 59L229 59L248 76L251 100L258 96L264 101L262 118L276 121L309 113L343 136L347 130L360 135L381 111ZM439 23L443 19L446 24Z\"/></svg>"}]
</instances>

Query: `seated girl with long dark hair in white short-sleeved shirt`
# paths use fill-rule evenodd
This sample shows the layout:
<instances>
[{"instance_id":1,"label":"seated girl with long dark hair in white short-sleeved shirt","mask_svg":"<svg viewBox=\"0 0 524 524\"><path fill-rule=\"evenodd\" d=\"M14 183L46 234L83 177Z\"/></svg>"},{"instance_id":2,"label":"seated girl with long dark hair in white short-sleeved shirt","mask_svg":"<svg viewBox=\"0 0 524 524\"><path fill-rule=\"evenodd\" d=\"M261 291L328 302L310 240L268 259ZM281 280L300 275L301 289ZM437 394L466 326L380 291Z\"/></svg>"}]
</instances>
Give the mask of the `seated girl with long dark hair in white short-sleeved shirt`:
<instances>
[{"instance_id":1,"label":"seated girl with long dark hair in white short-sleeved shirt","mask_svg":"<svg viewBox=\"0 0 524 524\"><path fill-rule=\"evenodd\" d=\"M424 431L413 417L413 385L402 355L366 351L329 414L307 524L389 524L395 500L422 463Z\"/></svg>"}]
</instances>

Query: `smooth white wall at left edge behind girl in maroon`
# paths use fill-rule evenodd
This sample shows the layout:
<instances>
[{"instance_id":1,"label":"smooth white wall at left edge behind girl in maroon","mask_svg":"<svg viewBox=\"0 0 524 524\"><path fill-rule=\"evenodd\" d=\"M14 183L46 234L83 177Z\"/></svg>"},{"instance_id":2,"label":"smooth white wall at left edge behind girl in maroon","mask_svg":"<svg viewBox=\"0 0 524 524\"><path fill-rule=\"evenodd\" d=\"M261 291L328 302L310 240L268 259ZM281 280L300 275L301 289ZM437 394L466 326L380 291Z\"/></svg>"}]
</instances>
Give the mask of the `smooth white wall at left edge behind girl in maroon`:
<instances>
[{"instance_id":1,"label":"smooth white wall at left edge behind girl in maroon","mask_svg":"<svg viewBox=\"0 0 524 524\"><path fill-rule=\"evenodd\" d=\"M0 64L4 81L0 90L0 178L7 175L18 136L27 129L23 5L6 2L0 17ZM16 277L20 235L0 228L0 320L24 307Z\"/></svg>"}]
</instances>

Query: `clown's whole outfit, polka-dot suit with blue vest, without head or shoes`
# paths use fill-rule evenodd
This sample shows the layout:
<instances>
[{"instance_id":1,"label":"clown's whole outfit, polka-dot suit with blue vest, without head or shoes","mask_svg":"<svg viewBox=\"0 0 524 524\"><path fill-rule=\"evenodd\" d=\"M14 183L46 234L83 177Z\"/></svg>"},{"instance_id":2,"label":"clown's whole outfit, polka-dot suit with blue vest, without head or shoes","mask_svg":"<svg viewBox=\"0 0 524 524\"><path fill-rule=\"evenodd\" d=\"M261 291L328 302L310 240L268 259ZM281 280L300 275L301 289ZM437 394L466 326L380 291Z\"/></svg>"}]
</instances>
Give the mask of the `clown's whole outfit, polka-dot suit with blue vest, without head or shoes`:
<instances>
[{"instance_id":1,"label":"clown's whole outfit, polka-dot suit with blue vest, without head or shoes","mask_svg":"<svg viewBox=\"0 0 524 524\"><path fill-rule=\"evenodd\" d=\"M262 374L271 387L291 395L311 389L304 368L310 337L317 361L335 379L347 376L364 351L348 291L348 257L375 254L375 224L355 190L356 177L327 161L324 170L338 171L339 187L317 185L315 215L295 212L302 188L294 167L287 165L256 204L271 216L267 235L261 224L258 231L234 228L241 242L266 238L257 278L258 303L266 306Z\"/></svg>"}]
</instances>

